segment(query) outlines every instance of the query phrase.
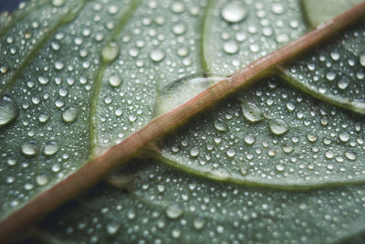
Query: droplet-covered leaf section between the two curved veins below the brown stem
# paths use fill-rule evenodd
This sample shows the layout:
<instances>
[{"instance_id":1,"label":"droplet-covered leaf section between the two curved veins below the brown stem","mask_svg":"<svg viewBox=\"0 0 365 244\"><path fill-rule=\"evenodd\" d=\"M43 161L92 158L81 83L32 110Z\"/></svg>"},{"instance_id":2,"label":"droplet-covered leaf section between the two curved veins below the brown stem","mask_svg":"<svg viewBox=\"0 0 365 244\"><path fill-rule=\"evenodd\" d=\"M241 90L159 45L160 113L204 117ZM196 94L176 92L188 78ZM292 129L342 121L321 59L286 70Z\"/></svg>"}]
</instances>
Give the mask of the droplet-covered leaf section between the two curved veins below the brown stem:
<instances>
[{"instance_id":1,"label":"droplet-covered leaf section between the two curved veins below the brown stem","mask_svg":"<svg viewBox=\"0 0 365 244\"><path fill-rule=\"evenodd\" d=\"M276 80L238 97L167 138L164 156L201 175L235 182L308 186L363 178L360 117Z\"/></svg>"}]
</instances>

